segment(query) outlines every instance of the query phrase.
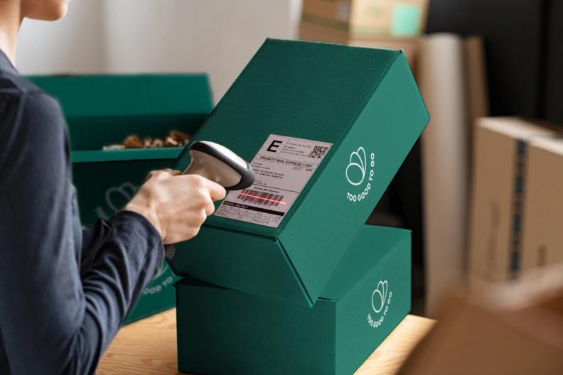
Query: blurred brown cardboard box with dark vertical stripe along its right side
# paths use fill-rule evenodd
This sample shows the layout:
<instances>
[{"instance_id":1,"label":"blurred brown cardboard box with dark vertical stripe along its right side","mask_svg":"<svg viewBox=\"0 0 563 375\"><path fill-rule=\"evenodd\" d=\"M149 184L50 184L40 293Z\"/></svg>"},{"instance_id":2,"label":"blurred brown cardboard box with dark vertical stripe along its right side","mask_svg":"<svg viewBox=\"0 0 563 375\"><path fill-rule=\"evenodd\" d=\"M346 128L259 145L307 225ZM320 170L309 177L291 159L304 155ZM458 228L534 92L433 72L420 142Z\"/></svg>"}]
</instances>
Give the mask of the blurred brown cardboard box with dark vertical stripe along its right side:
<instances>
[{"instance_id":1,"label":"blurred brown cardboard box with dark vertical stripe along its right side","mask_svg":"<svg viewBox=\"0 0 563 375\"><path fill-rule=\"evenodd\" d=\"M478 119L468 238L471 276L504 281L518 273L522 214L528 214L522 212L527 143L552 134L551 129L525 119Z\"/></svg>"}]
</instances>

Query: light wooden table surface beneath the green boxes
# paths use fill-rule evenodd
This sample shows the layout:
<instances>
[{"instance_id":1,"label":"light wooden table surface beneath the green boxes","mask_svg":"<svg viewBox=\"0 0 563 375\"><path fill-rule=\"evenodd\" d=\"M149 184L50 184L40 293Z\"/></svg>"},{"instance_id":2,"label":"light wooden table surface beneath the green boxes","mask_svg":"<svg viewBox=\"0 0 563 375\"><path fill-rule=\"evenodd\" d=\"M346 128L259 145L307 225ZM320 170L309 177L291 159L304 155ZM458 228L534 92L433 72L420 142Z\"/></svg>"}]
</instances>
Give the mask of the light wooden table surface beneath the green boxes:
<instances>
[{"instance_id":1,"label":"light wooden table surface beneath the green boxes","mask_svg":"<svg viewBox=\"0 0 563 375\"><path fill-rule=\"evenodd\" d=\"M434 320L408 315L355 375L395 374ZM176 309L123 327L100 361L97 374L181 374L176 369Z\"/></svg>"}]
</instances>

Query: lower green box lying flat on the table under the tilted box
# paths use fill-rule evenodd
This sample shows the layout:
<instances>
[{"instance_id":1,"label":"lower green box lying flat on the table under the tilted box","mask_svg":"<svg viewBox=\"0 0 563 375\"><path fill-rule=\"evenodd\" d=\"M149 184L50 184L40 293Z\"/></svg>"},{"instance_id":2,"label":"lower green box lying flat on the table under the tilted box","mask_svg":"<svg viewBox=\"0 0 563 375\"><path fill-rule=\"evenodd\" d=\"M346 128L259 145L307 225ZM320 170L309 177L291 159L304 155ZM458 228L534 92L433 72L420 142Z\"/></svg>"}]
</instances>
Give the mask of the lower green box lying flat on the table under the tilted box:
<instances>
[{"instance_id":1,"label":"lower green box lying flat on the table under the tilted box","mask_svg":"<svg viewBox=\"0 0 563 375\"><path fill-rule=\"evenodd\" d=\"M363 227L313 308L183 279L178 370L353 374L410 310L410 232Z\"/></svg>"}]
</instances>

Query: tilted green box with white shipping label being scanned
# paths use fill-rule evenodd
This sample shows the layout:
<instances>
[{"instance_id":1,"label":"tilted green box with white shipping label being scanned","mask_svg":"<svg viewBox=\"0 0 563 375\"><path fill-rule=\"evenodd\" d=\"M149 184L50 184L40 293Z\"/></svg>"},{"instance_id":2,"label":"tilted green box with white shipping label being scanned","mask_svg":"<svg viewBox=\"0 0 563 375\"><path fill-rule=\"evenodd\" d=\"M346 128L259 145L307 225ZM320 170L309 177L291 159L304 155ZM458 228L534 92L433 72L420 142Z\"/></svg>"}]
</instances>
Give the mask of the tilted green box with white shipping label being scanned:
<instances>
[{"instance_id":1,"label":"tilted green box with white shipping label being scanned","mask_svg":"<svg viewBox=\"0 0 563 375\"><path fill-rule=\"evenodd\" d=\"M256 183L171 268L312 306L428 120L400 50L266 40L195 136L252 161Z\"/></svg>"}]
</instances>

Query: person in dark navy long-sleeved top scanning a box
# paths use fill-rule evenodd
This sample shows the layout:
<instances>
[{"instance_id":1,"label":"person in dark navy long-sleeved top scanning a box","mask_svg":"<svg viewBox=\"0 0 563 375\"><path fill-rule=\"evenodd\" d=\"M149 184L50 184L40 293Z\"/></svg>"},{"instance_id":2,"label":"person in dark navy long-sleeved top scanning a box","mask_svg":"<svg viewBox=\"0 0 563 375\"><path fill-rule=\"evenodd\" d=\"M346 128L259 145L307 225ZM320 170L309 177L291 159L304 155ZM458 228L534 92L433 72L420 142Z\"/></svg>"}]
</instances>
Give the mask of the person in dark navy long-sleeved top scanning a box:
<instances>
[{"instance_id":1,"label":"person in dark navy long-sleeved top scanning a box","mask_svg":"<svg viewBox=\"0 0 563 375\"><path fill-rule=\"evenodd\" d=\"M111 222L80 227L60 108L13 65L23 18L67 3L0 0L0 374L94 373L163 244L195 236L225 197L158 171Z\"/></svg>"}]
</instances>

